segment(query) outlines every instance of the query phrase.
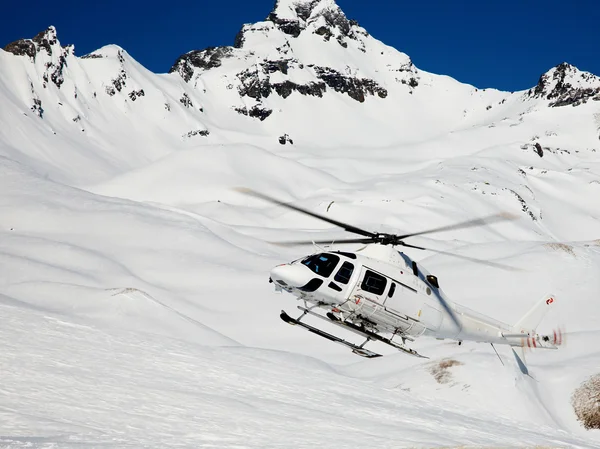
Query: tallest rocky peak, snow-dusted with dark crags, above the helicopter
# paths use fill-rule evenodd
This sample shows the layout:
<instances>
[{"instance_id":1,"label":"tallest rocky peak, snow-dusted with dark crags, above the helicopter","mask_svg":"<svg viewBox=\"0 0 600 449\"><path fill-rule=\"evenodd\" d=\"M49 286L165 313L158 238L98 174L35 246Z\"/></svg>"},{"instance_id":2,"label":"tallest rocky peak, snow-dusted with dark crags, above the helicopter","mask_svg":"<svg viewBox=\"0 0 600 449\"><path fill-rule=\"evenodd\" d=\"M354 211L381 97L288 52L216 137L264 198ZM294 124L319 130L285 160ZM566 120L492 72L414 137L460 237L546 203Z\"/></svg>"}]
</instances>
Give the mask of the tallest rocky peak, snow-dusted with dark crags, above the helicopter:
<instances>
[{"instance_id":1,"label":"tallest rocky peak, snow-dusted with dark crags, above the helicopter","mask_svg":"<svg viewBox=\"0 0 600 449\"><path fill-rule=\"evenodd\" d=\"M332 91L361 103L367 97L386 98L385 81L373 69L374 60L382 72L398 70L397 77L412 78L413 89L416 69L410 59L399 55L382 62L384 53L385 48L348 20L334 0L277 0L266 20L242 27L233 47L186 53L170 72L193 85L208 71L220 72L227 78L227 89L239 94L240 105L234 110L265 120L272 112L271 95L321 98Z\"/></svg>"}]
</instances>

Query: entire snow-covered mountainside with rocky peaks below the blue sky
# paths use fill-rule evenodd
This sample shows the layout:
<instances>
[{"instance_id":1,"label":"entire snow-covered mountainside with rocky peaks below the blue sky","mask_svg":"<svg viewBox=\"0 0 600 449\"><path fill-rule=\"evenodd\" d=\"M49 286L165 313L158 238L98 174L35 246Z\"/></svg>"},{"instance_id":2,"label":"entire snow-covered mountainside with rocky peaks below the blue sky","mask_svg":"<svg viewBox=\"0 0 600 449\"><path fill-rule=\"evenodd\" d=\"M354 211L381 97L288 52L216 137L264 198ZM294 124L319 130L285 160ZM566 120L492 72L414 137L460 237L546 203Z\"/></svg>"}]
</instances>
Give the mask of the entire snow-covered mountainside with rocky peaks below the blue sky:
<instances>
[{"instance_id":1,"label":"entire snow-covered mountainside with rocky peaks below the blue sky","mask_svg":"<svg viewBox=\"0 0 600 449\"><path fill-rule=\"evenodd\" d=\"M600 372L597 77L477 90L333 0L279 0L164 75L116 46L76 57L54 28L6 48L0 447L600 447L570 405ZM268 272L313 249L268 242L344 233L239 186L373 231L517 214L410 243L519 271L407 253L504 322L555 294L539 330L567 344L525 375L502 347L365 360L294 329Z\"/></svg>"}]
</instances>

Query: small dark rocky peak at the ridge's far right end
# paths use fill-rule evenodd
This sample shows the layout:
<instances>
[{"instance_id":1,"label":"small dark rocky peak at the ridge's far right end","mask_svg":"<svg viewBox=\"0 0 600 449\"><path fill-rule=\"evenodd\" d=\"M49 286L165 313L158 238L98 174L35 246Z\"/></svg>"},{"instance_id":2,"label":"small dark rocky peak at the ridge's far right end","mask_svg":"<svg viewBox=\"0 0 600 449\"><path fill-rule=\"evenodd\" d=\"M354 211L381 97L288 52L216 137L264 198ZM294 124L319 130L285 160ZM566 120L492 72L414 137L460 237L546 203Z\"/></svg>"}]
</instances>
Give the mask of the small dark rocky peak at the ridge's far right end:
<instances>
[{"instance_id":1,"label":"small dark rocky peak at the ridge's far right end","mask_svg":"<svg viewBox=\"0 0 600 449\"><path fill-rule=\"evenodd\" d=\"M600 78L563 62L540 76L527 95L550 100L551 107L578 106L589 99L600 101Z\"/></svg>"}]
</instances>

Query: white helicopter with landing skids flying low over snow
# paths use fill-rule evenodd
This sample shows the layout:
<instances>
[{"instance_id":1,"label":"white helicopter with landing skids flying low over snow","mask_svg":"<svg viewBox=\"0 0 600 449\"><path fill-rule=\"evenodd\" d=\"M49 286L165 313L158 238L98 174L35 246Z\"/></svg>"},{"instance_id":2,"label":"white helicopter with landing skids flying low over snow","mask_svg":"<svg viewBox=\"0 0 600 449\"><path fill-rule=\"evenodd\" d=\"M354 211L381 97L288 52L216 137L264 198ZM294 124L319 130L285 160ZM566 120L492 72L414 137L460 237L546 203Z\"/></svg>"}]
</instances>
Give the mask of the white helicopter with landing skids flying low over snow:
<instances>
[{"instance_id":1,"label":"white helicopter with landing skids flying low over snow","mask_svg":"<svg viewBox=\"0 0 600 449\"><path fill-rule=\"evenodd\" d=\"M556 304L554 295L544 296L514 326L510 326L450 301L441 290L436 276L395 249L397 246L427 249L511 269L489 261L411 245L405 243L404 239L434 232L488 225L513 219L514 216L492 215L403 235L373 233L249 189L236 190L362 236L339 240L336 243L367 244L355 252L322 251L273 268L269 282L274 284L275 289L291 293L304 304L298 306L302 311L298 318L292 318L285 311L281 311L281 319L286 323L300 326L350 348L355 354L369 358L381 356L365 348L370 341L386 343L406 354L427 358L405 346L407 341L414 341L421 335L437 339L452 339L459 344L463 341L489 343L492 347L498 344L557 349L562 343L560 330L553 331L552 335L538 335L535 331L549 308ZM283 245L326 243L331 243L331 240L278 242ZM324 312L319 313L321 310ZM307 315L318 317L358 334L365 338L365 341L357 345L309 325L302 321Z\"/></svg>"}]
</instances>

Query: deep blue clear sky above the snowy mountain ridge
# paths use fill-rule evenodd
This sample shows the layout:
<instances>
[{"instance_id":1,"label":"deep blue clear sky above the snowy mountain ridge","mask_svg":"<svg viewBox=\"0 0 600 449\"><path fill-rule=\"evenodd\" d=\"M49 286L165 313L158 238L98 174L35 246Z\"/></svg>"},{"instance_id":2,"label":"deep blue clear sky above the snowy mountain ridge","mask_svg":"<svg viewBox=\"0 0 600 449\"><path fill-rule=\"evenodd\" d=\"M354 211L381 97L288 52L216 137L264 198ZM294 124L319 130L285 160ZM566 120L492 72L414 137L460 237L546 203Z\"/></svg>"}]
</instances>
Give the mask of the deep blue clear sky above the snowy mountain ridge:
<instances>
[{"instance_id":1,"label":"deep blue clear sky above the snowy mountain ridge","mask_svg":"<svg viewBox=\"0 0 600 449\"><path fill-rule=\"evenodd\" d=\"M348 18L417 67L477 87L521 90L567 61L600 75L598 0L337 0ZM55 25L77 55L118 44L154 72L190 50L232 45L274 0L8 2L0 46Z\"/></svg>"}]
</instances>

